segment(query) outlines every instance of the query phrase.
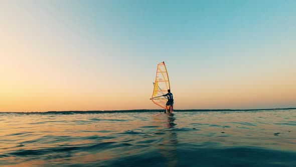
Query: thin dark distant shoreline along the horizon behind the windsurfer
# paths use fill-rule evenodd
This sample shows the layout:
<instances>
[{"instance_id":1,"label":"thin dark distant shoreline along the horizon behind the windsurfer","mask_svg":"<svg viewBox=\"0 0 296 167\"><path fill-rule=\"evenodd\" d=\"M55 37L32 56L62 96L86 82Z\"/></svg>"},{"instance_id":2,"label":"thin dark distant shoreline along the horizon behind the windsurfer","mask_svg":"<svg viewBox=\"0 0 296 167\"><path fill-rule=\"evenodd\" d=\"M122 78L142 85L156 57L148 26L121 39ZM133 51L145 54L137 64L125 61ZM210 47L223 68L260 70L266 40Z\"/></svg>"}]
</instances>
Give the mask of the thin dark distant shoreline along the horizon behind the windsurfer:
<instances>
[{"instance_id":1,"label":"thin dark distant shoreline along the horizon behind the windsurfer","mask_svg":"<svg viewBox=\"0 0 296 167\"><path fill-rule=\"evenodd\" d=\"M211 112L211 111L268 111L268 110L296 110L296 108L275 108L275 109L190 109L190 110L174 110L176 112ZM31 111L31 112L0 112L0 113L136 113L136 112L161 112L164 109L142 109L142 110L96 110L96 111Z\"/></svg>"}]
</instances>

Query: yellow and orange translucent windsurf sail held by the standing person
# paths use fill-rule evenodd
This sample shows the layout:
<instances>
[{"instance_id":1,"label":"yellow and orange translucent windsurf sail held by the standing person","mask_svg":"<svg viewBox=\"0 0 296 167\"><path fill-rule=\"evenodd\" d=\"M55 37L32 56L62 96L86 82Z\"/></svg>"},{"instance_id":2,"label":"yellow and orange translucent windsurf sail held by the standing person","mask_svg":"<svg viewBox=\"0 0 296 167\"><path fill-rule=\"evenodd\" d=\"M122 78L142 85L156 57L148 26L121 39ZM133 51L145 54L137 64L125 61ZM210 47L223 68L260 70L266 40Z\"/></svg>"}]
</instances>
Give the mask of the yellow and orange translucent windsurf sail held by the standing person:
<instances>
[{"instance_id":1,"label":"yellow and orange translucent windsurf sail held by the standing person","mask_svg":"<svg viewBox=\"0 0 296 167\"><path fill-rule=\"evenodd\" d=\"M156 78L153 85L154 90L151 100L153 103L166 109L166 103L168 100L167 97L162 95L168 93L168 90L170 89L170 80L165 62L161 62L157 65Z\"/></svg>"}]
</instances>

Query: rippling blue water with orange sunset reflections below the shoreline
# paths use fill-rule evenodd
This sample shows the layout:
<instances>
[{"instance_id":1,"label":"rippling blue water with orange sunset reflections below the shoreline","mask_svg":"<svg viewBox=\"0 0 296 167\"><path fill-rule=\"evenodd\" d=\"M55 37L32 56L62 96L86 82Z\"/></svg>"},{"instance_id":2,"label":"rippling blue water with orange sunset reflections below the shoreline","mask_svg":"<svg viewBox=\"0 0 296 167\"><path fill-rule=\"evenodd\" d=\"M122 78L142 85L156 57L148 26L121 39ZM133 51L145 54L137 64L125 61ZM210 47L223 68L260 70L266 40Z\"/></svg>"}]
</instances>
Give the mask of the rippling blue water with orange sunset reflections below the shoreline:
<instances>
[{"instance_id":1,"label":"rippling blue water with orange sunset reflections below the shoreline","mask_svg":"<svg viewBox=\"0 0 296 167\"><path fill-rule=\"evenodd\" d=\"M0 166L296 166L296 110L0 113Z\"/></svg>"}]
</instances>

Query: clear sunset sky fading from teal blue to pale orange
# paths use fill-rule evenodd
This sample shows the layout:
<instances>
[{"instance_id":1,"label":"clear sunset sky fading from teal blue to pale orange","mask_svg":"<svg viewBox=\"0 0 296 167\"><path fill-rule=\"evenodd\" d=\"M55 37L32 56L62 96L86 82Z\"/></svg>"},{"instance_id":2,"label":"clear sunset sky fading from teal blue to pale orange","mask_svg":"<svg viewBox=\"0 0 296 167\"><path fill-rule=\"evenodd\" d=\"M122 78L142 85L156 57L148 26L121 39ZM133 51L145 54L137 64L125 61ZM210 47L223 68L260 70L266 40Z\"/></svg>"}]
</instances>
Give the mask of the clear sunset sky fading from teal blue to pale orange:
<instances>
[{"instance_id":1,"label":"clear sunset sky fading from teal blue to pale orange","mask_svg":"<svg viewBox=\"0 0 296 167\"><path fill-rule=\"evenodd\" d=\"M296 1L0 0L0 112L296 107Z\"/></svg>"}]
</instances>

